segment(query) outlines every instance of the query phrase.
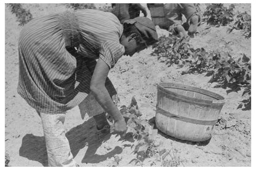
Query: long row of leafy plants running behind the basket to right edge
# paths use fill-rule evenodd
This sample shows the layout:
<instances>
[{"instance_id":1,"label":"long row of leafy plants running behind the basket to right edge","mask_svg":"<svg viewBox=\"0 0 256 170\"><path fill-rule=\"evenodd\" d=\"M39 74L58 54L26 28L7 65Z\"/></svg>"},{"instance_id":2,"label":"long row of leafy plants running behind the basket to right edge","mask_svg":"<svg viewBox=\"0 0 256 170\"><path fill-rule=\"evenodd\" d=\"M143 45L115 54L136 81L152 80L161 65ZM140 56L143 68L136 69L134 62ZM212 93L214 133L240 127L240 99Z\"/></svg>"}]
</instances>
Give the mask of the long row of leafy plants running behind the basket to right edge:
<instances>
[{"instance_id":1,"label":"long row of leafy plants running behind the basket to right edge","mask_svg":"<svg viewBox=\"0 0 256 170\"><path fill-rule=\"evenodd\" d=\"M188 44L185 39L178 37L160 37L159 42L153 45L152 55L157 55L158 60L164 58L162 62L172 64L186 65L188 69L183 74L202 74L212 76L209 83L216 82L215 88L225 88L227 93L244 90L244 95L249 98L240 102L238 109L250 109L251 103L251 66L250 58L243 55L235 61L229 53L223 57L218 52L208 53L204 48L196 50Z\"/></svg>"}]
</instances>

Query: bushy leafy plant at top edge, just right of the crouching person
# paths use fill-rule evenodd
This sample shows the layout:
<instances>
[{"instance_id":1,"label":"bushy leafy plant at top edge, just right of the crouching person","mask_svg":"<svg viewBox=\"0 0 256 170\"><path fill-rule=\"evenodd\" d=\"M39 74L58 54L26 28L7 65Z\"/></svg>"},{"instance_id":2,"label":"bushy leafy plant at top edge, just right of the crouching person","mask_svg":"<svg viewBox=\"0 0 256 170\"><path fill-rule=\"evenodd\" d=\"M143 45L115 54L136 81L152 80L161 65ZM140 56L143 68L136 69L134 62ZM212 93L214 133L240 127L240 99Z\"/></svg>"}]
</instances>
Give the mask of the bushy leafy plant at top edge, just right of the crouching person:
<instances>
[{"instance_id":1,"label":"bushy leafy plant at top edge, just right of the crouching person","mask_svg":"<svg viewBox=\"0 0 256 170\"><path fill-rule=\"evenodd\" d=\"M223 4L210 4L206 7L206 11L203 14L203 21L206 21L208 25L226 26L234 20L233 9L233 4L228 8L224 7Z\"/></svg>"}]
</instances>

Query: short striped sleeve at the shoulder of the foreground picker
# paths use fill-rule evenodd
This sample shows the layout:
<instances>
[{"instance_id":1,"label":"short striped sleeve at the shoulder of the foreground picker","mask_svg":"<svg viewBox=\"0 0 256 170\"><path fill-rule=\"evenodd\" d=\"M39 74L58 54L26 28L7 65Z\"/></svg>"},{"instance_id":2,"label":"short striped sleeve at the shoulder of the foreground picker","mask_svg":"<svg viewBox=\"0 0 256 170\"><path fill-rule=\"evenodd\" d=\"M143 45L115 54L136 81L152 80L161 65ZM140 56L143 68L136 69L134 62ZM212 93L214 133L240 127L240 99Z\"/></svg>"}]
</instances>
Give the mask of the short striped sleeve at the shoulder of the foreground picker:
<instances>
[{"instance_id":1,"label":"short striped sleeve at the shoulder of the foreground picker","mask_svg":"<svg viewBox=\"0 0 256 170\"><path fill-rule=\"evenodd\" d=\"M113 68L122 55L124 55L124 46L119 42L107 41L100 48L99 57L108 64L109 68Z\"/></svg>"}]
</instances>

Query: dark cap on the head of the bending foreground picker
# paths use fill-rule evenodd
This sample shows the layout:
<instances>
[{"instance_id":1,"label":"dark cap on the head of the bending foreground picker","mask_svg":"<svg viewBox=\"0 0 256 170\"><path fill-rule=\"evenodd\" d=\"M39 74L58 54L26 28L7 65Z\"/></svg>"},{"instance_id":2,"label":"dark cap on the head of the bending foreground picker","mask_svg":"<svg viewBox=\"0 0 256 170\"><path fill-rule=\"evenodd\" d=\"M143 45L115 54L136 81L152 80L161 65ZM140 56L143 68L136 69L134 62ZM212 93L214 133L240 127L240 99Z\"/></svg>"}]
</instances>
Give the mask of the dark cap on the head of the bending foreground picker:
<instances>
[{"instance_id":1,"label":"dark cap on the head of the bending foreground picker","mask_svg":"<svg viewBox=\"0 0 256 170\"><path fill-rule=\"evenodd\" d=\"M142 39L146 41L147 45L152 45L158 42L158 33L153 21L146 17L136 17L130 20L125 20L124 24L134 24L135 27L142 34Z\"/></svg>"}]
</instances>

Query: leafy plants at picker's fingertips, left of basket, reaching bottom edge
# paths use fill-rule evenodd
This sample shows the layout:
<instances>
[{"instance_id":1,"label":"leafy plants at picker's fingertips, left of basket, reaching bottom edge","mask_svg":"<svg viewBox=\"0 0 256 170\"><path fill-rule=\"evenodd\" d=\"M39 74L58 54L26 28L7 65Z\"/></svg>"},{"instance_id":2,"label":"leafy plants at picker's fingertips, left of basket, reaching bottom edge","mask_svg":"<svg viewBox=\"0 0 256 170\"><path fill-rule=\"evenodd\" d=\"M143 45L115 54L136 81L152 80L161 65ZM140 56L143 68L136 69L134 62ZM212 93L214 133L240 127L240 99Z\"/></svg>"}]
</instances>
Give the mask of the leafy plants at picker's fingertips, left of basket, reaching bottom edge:
<instances>
[{"instance_id":1,"label":"leafy plants at picker's fingertips, left of basket, reaching bottom edge","mask_svg":"<svg viewBox=\"0 0 256 170\"><path fill-rule=\"evenodd\" d=\"M121 106L120 112L126 119L126 136L131 136L134 139L131 149L136 158L130 160L130 164L143 166L145 159L151 157L156 158L156 161L161 161L162 166L178 166L180 164L177 150L174 152L174 150L162 149L160 144L156 144L158 129L154 129L153 122L140 118L142 114L138 110L134 97L128 107Z\"/></svg>"}]
</instances>

